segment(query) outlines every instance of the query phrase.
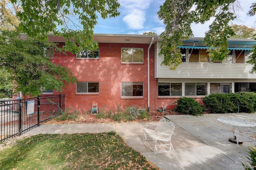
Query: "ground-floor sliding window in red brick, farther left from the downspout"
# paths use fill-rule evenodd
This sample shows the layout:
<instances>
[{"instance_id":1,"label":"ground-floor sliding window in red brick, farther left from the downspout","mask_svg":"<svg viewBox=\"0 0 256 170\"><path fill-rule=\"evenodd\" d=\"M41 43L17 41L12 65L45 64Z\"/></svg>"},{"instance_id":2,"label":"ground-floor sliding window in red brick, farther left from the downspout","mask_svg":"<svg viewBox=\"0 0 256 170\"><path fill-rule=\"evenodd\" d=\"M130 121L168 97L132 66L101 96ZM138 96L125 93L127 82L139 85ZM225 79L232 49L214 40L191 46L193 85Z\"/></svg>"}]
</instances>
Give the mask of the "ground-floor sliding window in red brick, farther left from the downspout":
<instances>
[{"instance_id":1,"label":"ground-floor sliding window in red brick, farther left from the downspout","mask_svg":"<svg viewBox=\"0 0 256 170\"><path fill-rule=\"evenodd\" d=\"M98 82L77 82L76 93L99 93Z\"/></svg>"}]
</instances>

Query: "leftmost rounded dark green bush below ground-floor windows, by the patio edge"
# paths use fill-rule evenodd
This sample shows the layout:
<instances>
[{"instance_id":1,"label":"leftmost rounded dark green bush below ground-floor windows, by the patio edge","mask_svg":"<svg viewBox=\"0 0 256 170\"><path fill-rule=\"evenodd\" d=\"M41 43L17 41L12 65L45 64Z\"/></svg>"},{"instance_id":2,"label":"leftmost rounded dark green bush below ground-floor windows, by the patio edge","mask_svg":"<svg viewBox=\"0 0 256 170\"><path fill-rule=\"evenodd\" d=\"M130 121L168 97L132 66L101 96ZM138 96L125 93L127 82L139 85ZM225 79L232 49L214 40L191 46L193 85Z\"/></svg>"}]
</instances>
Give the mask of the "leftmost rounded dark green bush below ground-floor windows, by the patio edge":
<instances>
[{"instance_id":1,"label":"leftmost rounded dark green bush below ground-floor windows, by the patio edge","mask_svg":"<svg viewBox=\"0 0 256 170\"><path fill-rule=\"evenodd\" d=\"M204 113L204 108L192 98L180 97L176 103L177 105L174 110L177 112L195 116L202 115Z\"/></svg>"}]
</instances>

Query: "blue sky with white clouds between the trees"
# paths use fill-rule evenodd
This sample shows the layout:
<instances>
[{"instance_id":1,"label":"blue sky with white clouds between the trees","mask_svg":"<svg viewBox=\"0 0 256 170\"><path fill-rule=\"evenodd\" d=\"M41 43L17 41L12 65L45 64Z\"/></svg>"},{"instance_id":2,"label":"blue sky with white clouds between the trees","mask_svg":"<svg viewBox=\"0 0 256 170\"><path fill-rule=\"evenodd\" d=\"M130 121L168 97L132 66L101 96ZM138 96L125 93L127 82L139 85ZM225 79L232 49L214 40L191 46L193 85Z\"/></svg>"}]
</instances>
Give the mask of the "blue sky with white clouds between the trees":
<instances>
[{"instance_id":1,"label":"blue sky with white clouds between the trees","mask_svg":"<svg viewBox=\"0 0 256 170\"><path fill-rule=\"evenodd\" d=\"M164 31L165 26L158 19L157 12L160 5L165 0L119 0L120 16L103 20L98 18L98 24L94 28L94 33L100 34L143 34L144 32L155 32L158 35ZM236 24L255 27L256 17L248 17L251 4L255 0L239 0L242 9L239 9L240 20L236 20ZM195 37L204 37L204 33L208 30L208 26L213 21L210 20L204 25L192 24L192 31Z\"/></svg>"}]
</instances>

